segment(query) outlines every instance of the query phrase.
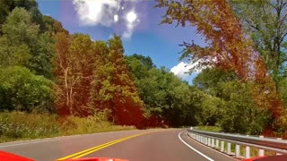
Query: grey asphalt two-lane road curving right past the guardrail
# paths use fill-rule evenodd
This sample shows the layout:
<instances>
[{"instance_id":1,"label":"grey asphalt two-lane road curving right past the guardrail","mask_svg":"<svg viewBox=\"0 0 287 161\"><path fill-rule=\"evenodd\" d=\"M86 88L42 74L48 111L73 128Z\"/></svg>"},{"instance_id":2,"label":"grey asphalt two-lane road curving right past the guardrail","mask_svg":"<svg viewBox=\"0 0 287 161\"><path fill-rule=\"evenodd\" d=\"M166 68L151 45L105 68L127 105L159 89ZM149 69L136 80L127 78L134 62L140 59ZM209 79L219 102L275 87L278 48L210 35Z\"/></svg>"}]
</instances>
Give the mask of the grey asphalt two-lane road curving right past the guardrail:
<instances>
[{"instance_id":1,"label":"grey asphalt two-lane road curving right past the guardrail","mask_svg":"<svg viewBox=\"0 0 287 161\"><path fill-rule=\"evenodd\" d=\"M235 160L190 139L184 129L115 131L16 141L1 143L0 150L39 161L77 157L117 157L130 161Z\"/></svg>"}]
</instances>

